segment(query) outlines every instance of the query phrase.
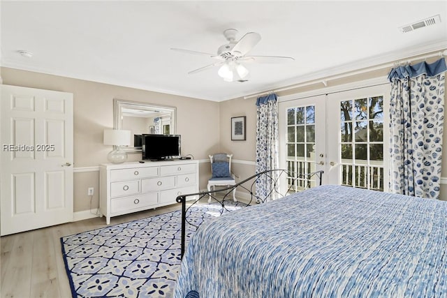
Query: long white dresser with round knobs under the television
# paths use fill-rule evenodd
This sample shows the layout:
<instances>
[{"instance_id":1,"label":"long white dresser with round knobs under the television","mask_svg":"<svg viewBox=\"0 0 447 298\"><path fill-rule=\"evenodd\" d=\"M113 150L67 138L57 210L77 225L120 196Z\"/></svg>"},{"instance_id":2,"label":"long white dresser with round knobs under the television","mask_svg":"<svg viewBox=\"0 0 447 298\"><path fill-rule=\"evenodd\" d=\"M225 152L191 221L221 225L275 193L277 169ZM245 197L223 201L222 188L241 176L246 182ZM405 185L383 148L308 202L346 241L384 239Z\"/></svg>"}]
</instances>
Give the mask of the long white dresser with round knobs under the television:
<instances>
[{"instance_id":1,"label":"long white dresser with round knobs under the television","mask_svg":"<svg viewBox=\"0 0 447 298\"><path fill-rule=\"evenodd\" d=\"M198 161L103 163L99 180L99 210L109 224L112 216L177 204L178 195L198 193Z\"/></svg>"}]
</instances>

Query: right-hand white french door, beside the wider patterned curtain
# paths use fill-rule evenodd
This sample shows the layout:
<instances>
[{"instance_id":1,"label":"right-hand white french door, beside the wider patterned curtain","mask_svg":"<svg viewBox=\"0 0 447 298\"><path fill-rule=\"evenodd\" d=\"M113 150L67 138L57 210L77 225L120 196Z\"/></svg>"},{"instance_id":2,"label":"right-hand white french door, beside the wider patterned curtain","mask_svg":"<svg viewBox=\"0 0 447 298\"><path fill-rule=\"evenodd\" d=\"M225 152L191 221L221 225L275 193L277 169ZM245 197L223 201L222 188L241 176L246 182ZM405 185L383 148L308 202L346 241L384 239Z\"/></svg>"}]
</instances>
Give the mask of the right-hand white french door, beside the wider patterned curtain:
<instances>
[{"instance_id":1,"label":"right-hand white french door, beside the wider patterned curtain","mask_svg":"<svg viewBox=\"0 0 447 298\"><path fill-rule=\"evenodd\" d=\"M388 191L390 84L328 95L328 183Z\"/></svg>"}]
</instances>

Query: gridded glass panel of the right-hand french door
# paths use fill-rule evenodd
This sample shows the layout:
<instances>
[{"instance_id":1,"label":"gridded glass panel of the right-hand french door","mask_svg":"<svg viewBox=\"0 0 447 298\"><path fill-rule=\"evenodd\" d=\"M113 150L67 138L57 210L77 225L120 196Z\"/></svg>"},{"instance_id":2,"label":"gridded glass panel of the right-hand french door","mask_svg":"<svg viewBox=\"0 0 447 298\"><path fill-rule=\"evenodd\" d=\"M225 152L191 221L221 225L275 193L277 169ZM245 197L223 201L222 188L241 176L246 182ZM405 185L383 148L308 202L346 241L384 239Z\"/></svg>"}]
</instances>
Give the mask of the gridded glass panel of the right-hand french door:
<instances>
[{"instance_id":1,"label":"gridded glass panel of the right-hand french door","mask_svg":"<svg viewBox=\"0 0 447 298\"><path fill-rule=\"evenodd\" d=\"M340 102L341 184L383 191L383 96Z\"/></svg>"}]
</instances>

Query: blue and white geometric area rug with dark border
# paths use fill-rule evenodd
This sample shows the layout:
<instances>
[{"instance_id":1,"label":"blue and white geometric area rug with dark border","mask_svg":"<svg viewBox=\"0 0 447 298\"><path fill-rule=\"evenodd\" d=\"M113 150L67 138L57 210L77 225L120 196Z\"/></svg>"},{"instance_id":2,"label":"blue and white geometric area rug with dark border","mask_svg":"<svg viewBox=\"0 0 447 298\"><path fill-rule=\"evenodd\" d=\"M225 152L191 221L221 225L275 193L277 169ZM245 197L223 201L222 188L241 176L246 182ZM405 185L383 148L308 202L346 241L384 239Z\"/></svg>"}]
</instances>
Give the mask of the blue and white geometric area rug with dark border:
<instances>
[{"instance_id":1,"label":"blue and white geometric area rug with dark border","mask_svg":"<svg viewBox=\"0 0 447 298\"><path fill-rule=\"evenodd\" d=\"M226 203L230 210L239 207ZM220 204L191 207L186 239L195 226L220 216L221 210ZM180 265L181 218L174 211L61 237L73 297L172 297Z\"/></svg>"}]
</instances>

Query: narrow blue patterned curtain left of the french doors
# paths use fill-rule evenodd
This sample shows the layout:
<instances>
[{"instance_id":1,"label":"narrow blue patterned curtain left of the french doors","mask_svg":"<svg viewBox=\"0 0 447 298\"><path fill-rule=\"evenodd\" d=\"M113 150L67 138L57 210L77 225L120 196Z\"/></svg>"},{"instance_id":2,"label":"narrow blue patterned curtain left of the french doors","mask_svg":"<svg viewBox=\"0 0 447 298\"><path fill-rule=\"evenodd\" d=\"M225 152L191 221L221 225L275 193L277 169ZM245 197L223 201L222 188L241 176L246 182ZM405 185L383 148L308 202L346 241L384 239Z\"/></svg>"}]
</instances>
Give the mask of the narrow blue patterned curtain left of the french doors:
<instances>
[{"instance_id":1,"label":"narrow blue patterned curtain left of the french doors","mask_svg":"<svg viewBox=\"0 0 447 298\"><path fill-rule=\"evenodd\" d=\"M256 100L256 173L265 170L278 169L278 103L277 95L259 97ZM273 173L274 175L277 173ZM275 181L277 177L272 177ZM277 186L278 187L278 186ZM270 195L269 195L270 194ZM274 200L274 184L272 179L263 175L262 179L256 181L256 195L258 198Z\"/></svg>"}]
</instances>

